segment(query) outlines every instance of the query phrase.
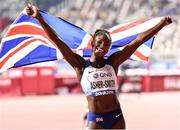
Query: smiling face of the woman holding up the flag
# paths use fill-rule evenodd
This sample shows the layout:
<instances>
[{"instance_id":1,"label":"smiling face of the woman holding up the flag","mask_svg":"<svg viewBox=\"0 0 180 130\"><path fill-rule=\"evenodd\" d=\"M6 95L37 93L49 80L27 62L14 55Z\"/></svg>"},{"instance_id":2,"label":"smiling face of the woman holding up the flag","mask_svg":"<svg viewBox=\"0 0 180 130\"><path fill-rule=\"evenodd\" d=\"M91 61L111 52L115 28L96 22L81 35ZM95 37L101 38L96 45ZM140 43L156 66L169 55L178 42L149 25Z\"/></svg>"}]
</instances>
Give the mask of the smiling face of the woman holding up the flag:
<instances>
[{"instance_id":1,"label":"smiling face of the woman holding up the flag","mask_svg":"<svg viewBox=\"0 0 180 130\"><path fill-rule=\"evenodd\" d=\"M99 34L94 38L92 49L95 56L103 57L109 51L111 41L103 34Z\"/></svg>"}]
</instances>

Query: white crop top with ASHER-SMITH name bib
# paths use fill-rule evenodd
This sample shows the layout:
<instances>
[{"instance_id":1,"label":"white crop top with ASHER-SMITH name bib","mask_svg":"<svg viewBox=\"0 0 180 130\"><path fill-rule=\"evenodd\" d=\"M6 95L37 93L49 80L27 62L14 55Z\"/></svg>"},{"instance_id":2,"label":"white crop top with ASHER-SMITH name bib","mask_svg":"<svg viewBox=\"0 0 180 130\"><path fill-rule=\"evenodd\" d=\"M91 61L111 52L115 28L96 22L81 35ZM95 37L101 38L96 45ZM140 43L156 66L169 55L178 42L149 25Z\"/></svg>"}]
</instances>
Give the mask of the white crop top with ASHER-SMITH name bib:
<instances>
[{"instance_id":1,"label":"white crop top with ASHER-SMITH name bib","mask_svg":"<svg viewBox=\"0 0 180 130\"><path fill-rule=\"evenodd\" d=\"M102 68L95 68L88 60L81 78L81 86L86 96L115 94L117 77L114 68L107 63Z\"/></svg>"}]
</instances>

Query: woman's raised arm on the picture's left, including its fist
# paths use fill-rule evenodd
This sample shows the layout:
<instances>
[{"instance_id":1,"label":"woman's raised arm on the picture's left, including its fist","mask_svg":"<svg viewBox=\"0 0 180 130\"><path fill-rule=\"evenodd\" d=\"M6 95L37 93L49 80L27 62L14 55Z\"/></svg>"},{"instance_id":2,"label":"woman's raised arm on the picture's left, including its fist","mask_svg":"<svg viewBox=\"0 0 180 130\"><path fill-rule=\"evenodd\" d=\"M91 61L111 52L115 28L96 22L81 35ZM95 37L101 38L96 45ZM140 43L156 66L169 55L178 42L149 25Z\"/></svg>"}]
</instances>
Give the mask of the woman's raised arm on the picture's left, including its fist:
<instances>
[{"instance_id":1,"label":"woman's raised arm on the picture's left, including its fist","mask_svg":"<svg viewBox=\"0 0 180 130\"><path fill-rule=\"evenodd\" d=\"M31 4L28 4L26 7L26 12L28 15L36 18L49 38L56 44L58 49L61 51L63 57L71 64L71 66L76 70L77 68L82 69L83 65L85 63L85 60L75 54L56 34L56 32L44 21L44 19L41 17L41 14L38 11L38 8L36 6L33 6ZM63 27L62 27L63 28Z\"/></svg>"}]
</instances>

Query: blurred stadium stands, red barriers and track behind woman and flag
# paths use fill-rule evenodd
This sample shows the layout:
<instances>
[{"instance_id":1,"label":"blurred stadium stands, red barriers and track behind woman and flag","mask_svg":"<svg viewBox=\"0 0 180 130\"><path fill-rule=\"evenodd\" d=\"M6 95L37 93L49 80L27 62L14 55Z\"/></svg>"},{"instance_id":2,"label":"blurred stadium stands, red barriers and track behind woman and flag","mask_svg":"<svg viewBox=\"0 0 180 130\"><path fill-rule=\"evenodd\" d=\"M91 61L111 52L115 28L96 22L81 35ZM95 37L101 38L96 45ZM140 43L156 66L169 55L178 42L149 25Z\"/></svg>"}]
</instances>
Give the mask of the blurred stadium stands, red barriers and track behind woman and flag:
<instances>
[{"instance_id":1,"label":"blurred stadium stands, red barriers and track behind woman and flag","mask_svg":"<svg viewBox=\"0 0 180 130\"><path fill-rule=\"evenodd\" d=\"M149 62L126 61L118 80L127 76L120 95L127 128L180 128L180 0L1 0L0 38L27 3L90 33L170 15L174 22L158 33ZM0 129L81 129L85 111L85 97L65 61L0 74Z\"/></svg>"}]
</instances>

